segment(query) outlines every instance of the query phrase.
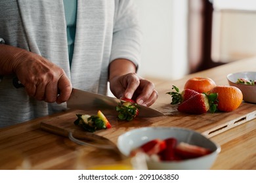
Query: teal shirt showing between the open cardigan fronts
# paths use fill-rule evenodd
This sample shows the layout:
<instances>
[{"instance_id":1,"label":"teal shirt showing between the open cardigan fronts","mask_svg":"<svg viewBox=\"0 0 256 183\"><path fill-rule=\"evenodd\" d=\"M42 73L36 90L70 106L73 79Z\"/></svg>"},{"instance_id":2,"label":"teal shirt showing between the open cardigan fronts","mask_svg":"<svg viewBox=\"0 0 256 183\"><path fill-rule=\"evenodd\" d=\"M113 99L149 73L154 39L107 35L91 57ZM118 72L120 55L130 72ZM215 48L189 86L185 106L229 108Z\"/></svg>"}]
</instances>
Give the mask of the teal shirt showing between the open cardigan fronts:
<instances>
[{"instance_id":1,"label":"teal shirt showing between the open cardigan fronts","mask_svg":"<svg viewBox=\"0 0 256 183\"><path fill-rule=\"evenodd\" d=\"M76 14L77 14L77 0L63 0L65 19L67 25L67 38L68 38L68 56L70 65L72 63L75 42L75 27L76 27Z\"/></svg>"}]
</instances>

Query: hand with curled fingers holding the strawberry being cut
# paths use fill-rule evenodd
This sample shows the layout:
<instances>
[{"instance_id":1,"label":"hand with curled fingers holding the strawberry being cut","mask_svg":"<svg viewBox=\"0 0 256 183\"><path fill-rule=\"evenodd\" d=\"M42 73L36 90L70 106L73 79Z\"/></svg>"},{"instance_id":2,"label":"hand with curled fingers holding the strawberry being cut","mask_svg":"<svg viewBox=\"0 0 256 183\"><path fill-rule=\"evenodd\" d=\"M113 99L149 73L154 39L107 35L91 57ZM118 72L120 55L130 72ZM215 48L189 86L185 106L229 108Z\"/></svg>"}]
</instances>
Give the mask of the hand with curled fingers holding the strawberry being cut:
<instances>
[{"instance_id":1,"label":"hand with curled fingers holding the strawberry being cut","mask_svg":"<svg viewBox=\"0 0 256 183\"><path fill-rule=\"evenodd\" d=\"M115 76L110 80L110 90L117 97L133 99L140 105L149 107L158 98L152 82L144 80L135 73Z\"/></svg>"}]
</instances>

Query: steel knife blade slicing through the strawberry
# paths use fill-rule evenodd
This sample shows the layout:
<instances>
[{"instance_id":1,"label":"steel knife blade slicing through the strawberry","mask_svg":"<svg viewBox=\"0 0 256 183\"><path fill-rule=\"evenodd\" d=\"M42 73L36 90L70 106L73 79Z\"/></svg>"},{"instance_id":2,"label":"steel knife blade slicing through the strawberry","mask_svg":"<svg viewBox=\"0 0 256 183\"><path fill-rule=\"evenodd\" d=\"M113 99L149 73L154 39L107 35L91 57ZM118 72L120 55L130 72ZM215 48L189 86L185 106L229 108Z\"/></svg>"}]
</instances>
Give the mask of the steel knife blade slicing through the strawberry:
<instances>
[{"instance_id":1,"label":"steel knife blade slicing through the strawberry","mask_svg":"<svg viewBox=\"0 0 256 183\"><path fill-rule=\"evenodd\" d=\"M67 101L67 106L72 109L75 108L89 111L102 110L104 114L116 115L116 107L118 103L121 103L121 99L73 88L70 99ZM144 105L138 104L138 108L138 116L142 118L165 116L160 111L145 107Z\"/></svg>"}]
</instances>

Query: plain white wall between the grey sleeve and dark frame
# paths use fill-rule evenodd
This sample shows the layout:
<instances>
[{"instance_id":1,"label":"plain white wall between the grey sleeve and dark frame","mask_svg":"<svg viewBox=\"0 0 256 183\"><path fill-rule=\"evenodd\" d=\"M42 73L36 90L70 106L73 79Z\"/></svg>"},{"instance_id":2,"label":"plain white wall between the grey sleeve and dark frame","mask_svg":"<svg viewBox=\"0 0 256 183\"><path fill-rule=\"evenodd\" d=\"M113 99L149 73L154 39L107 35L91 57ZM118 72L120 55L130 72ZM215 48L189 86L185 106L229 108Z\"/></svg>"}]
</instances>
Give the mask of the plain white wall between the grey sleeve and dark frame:
<instances>
[{"instance_id":1,"label":"plain white wall between the grey sleeve and dark frame","mask_svg":"<svg viewBox=\"0 0 256 183\"><path fill-rule=\"evenodd\" d=\"M140 75L171 80L188 72L187 1L135 0L143 32Z\"/></svg>"}]
</instances>

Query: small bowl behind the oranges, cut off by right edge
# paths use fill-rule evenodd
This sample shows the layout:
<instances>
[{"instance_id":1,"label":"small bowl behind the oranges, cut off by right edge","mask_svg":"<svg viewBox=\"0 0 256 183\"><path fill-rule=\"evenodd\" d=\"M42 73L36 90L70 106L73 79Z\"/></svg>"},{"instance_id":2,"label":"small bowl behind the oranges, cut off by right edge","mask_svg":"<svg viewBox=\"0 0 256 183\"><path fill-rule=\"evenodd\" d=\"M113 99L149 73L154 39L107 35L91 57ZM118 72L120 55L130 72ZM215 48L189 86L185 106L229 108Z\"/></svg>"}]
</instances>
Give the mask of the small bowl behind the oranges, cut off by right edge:
<instances>
[{"instance_id":1,"label":"small bowl behind the oranges, cut off by right edge","mask_svg":"<svg viewBox=\"0 0 256 183\"><path fill-rule=\"evenodd\" d=\"M248 103L256 103L256 85L236 84L238 78L256 80L256 72L231 73L226 76L230 86L236 86L243 93L243 100Z\"/></svg>"}]
</instances>

